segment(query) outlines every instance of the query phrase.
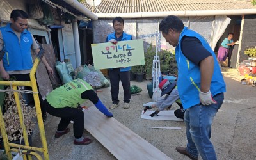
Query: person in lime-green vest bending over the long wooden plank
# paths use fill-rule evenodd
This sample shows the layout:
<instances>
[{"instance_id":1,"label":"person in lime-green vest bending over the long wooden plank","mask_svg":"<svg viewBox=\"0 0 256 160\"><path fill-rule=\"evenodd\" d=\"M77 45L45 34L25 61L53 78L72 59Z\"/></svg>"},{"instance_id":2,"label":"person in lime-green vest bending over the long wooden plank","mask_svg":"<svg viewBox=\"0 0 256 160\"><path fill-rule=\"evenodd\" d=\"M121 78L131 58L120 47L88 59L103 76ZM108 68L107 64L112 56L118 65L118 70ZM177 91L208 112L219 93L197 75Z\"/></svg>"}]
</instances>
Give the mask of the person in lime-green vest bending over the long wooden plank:
<instances>
[{"instance_id":1,"label":"person in lime-green vest bending over the long wooden plank","mask_svg":"<svg viewBox=\"0 0 256 160\"><path fill-rule=\"evenodd\" d=\"M95 77L98 78L94 79ZM61 118L55 133L55 138L60 138L60 136L67 134L70 131L68 128L70 121L74 122L75 145L88 145L92 143L91 139L83 137L84 113L80 104L83 104L86 100L90 100L104 115L108 117L113 116L93 91L92 86L90 86L90 84L93 86L101 86L97 73L90 72L84 79L85 81L83 79L75 79L74 81L70 81L56 88L47 95L44 102L45 110L50 115ZM88 81L88 83L86 81Z\"/></svg>"}]
</instances>

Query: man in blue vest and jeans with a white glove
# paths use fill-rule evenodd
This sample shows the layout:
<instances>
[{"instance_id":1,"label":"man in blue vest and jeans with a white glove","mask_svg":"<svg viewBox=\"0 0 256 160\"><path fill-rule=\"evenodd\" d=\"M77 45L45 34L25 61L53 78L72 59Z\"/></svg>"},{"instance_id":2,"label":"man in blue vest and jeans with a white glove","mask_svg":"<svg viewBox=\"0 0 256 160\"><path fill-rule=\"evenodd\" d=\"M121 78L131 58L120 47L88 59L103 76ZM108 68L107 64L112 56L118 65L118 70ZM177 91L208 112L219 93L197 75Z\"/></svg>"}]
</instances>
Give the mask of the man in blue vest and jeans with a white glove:
<instances>
[{"instance_id":1,"label":"man in blue vest and jeans with a white glove","mask_svg":"<svg viewBox=\"0 0 256 160\"><path fill-rule=\"evenodd\" d=\"M186 147L176 147L191 159L217 159L211 138L211 125L220 109L226 85L218 61L205 38L184 27L182 20L168 16L159 24L166 42L175 48L180 100L186 109Z\"/></svg>"}]
</instances>

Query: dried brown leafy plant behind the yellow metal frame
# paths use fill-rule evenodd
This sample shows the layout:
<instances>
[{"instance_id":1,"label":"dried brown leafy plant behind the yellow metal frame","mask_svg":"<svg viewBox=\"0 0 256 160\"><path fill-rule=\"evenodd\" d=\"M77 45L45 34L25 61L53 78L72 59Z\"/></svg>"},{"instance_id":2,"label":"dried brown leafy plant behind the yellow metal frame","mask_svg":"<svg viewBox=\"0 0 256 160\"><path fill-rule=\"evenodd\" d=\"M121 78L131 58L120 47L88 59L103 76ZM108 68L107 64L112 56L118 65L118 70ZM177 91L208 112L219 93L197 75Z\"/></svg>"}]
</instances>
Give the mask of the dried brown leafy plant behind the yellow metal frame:
<instances>
[{"instance_id":1,"label":"dried brown leafy plant behind the yellow metal frame","mask_svg":"<svg viewBox=\"0 0 256 160\"><path fill-rule=\"evenodd\" d=\"M24 117L24 125L26 126L28 136L30 136L29 143L31 143L31 134L33 132L33 126L36 123L32 120L36 116L35 107L32 108L27 106L24 102L25 100L22 99L21 93L19 93L19 99L21 101L20 106ZM4 96L3 120L9 142L19 144L22 135L22 126L20 126L19 115L13 93L6 93ZM0 137L2 138L2 134L0 134ZM24 144L24 141L22 144ZM3 145L1 145L1 147L2 146Z\"/></svg>"}]
</instances>

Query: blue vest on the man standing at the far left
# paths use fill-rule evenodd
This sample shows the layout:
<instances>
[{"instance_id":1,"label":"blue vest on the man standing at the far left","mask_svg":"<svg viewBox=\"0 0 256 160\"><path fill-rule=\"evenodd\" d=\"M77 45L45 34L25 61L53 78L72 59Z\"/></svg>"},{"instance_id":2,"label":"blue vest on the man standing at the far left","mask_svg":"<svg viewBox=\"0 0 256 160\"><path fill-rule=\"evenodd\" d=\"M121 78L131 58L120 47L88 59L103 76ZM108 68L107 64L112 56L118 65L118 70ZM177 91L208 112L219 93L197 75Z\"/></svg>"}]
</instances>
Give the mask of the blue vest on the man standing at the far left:
<instances>
[{"instance_id":1,"label":"blue vest on the man standing at the far left","mask_svg":"<svg viewBox=\"0 0 256 160\"><path fill-rule=\"evenodd\" d=\"M33 66L31 56L32 36L26 29L20 35L20 42L10 24L0 28L3 36L3 65L6 71L30 70Z\"/></svg>"}]
</instances>

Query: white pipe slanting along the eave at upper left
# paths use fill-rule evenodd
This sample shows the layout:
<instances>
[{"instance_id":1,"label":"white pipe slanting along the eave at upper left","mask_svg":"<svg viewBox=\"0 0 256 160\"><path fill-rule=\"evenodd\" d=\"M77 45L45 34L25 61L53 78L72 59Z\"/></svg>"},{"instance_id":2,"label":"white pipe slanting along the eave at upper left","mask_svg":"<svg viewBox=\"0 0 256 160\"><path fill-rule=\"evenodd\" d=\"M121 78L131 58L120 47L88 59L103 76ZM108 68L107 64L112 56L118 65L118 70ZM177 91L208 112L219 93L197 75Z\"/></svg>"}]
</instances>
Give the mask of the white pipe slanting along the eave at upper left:
<instances>
[{"instance_id":1,"label":"white pipe slanting along the eave at upper left","mask_svg":"<svg viewBox=\"0 0 256 160\"><path fill-rule=\"evenodd\" d=\"M81 13L83 13L84 15L89 17L90 19L98 20L97 15L95 15L92 12L90 12L90 10L88 10L85 6L83 6L83 4L79 3L78 1L75 1L75 0L63 0L63 1L65 1L68 4L70 4L70 6L76 8L76 10L78 10Z\"/></svg>"}]
</instances>

